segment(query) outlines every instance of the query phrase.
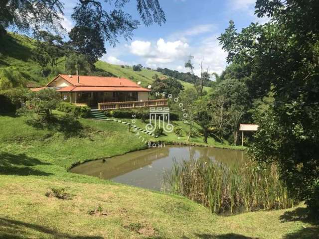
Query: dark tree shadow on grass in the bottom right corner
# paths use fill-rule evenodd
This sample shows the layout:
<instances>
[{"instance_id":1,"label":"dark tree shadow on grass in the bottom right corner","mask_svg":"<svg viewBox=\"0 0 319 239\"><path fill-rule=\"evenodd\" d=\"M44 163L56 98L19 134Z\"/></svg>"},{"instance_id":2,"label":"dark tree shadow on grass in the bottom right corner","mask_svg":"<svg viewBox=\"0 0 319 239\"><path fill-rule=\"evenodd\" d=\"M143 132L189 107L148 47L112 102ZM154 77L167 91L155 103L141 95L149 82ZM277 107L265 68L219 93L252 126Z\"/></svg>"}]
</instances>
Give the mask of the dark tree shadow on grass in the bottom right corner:
<instances>
[{"instance_id":1,"label":"dark tree shadow on grass in the bottom right corner","mask_svg":"<svg viewBox=\"0 0 319 239\"><path fill-rule=\"evenodd\" d=\"M284 236L284 239L319 239L319 222L308 216L307 208L296 208L293 211L285 212L280 216L281 221L284 222L303 222L309 223L313 226L303 228L295 233L290 233Z\"/></svg>"}]
</instances>

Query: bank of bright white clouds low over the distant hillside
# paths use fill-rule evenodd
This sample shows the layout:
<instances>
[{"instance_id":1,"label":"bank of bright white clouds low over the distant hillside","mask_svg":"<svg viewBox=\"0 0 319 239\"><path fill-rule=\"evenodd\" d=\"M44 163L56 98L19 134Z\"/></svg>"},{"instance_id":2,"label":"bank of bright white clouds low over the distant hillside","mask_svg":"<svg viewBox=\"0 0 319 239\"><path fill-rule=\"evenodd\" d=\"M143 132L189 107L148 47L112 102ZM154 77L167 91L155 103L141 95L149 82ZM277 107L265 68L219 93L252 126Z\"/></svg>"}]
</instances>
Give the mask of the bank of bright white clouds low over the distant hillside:
<instances>
[{"instance_id":1,"label":"bank of bright white clouds low over the distant hillside","mask_svg":"<svg viewBox=\"0 0 319 239\"><path fill-rule=\"evenodd\" d=\"M217 40L218 35L210 35L199 41L196 46L189 46L183 40L166 41L160 38L156 43L150 41L133 41L129 46L131 52L141 56L140 63L152 68L168 68L186 72L184 63L189 55L194 56L194 73L200 74L199 64L203 60L205 68L208 67L209 73L220 74L226 67L227 53L221 49ZM110 62L110 59L109 61ZM113 61L115 62L115 60ZM118 64L118 63L116 63Z\"/></svg>"}]
</instances>

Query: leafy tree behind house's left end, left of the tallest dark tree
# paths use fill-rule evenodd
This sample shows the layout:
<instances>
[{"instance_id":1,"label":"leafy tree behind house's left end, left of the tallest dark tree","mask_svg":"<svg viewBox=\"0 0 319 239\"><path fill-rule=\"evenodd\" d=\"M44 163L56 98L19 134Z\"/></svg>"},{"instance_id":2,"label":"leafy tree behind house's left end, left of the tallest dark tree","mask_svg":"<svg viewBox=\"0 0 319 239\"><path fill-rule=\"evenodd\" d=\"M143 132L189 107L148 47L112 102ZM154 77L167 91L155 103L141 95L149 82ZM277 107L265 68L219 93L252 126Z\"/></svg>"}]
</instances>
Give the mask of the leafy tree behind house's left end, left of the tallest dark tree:
<instances>
[{"instance_id":1,"label":"leafy tree behind house's left end, left of the tallest dark tree","mask_svg":"<svg viewBox=\"0 0 319 239\"><path fill-rule=\"evenodd\" d=\"M62 38L58 35L52 35L46 31L39 31L36 33L36 49L35 57L36 60L41 66L44 65L44 62L47 62L51 68L51 74L53 73L53 68L64 61L60 59L65 55L65 44L62 41ZM44 62L42 62L44 60Z\"/></svg>"}]
</instances>

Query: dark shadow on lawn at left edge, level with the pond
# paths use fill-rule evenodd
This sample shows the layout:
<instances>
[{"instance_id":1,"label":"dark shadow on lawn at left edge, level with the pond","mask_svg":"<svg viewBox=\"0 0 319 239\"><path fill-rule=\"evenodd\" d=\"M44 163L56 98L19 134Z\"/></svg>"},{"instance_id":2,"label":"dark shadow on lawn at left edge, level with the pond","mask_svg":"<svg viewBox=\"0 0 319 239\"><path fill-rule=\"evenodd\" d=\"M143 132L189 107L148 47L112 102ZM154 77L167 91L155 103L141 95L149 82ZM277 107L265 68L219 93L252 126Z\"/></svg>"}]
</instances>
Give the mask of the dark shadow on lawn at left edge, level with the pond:
<instances>
[{"instance_id":1,"label":"dark shadow on lawn at left edge, level with the pond","mask_svg":"<svg viewBox=\"0 0 319 239\"><path fill-rule=\"evenodd\" d=\"M37 169L31 168L35 165L49 165L40 160L28 157L25 154L11 154L0 152L0 174L3 175L38 175L49 176L51 173L46 173Z\"/></svg>"}]
</instances>

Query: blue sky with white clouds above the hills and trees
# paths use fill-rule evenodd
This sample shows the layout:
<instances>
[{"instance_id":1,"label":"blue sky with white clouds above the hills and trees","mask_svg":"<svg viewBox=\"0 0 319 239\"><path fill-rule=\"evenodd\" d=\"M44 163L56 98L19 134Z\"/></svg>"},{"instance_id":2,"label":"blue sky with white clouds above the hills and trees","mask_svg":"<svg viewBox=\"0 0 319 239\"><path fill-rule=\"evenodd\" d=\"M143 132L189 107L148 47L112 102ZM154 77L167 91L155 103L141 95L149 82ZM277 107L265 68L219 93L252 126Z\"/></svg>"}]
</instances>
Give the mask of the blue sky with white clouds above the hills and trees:
<instances>
[{"instance_id":1,"label":"blue sky with white clouds above the hills and trees","mask_svg":"<svg viewBox=\"0 0 319 239\"><path fill-rule=\"evenodd\" d=\"M62 25L69 31L73 22L71 14L77 0L64 1ZM133 32L131 40L119 38L112 47L105 42L107 53L102 60L118 65L142 64L156 69L168 68L187 72L184 63L192 55L195 74L199 74L199 64L203 61L209 73L220 74L226 67L226 52L219 45L217 37L228 27L229 20L237 29L251 22L264 23L254 15L256 0L160 0L166 22L159 26L145 26L143 23ZM110 6L104 3L104 8ZM140 20L136 1L131 0L124 10ZM142 21L141 21L142 22Z\"/></svg>"}]
</instances>

